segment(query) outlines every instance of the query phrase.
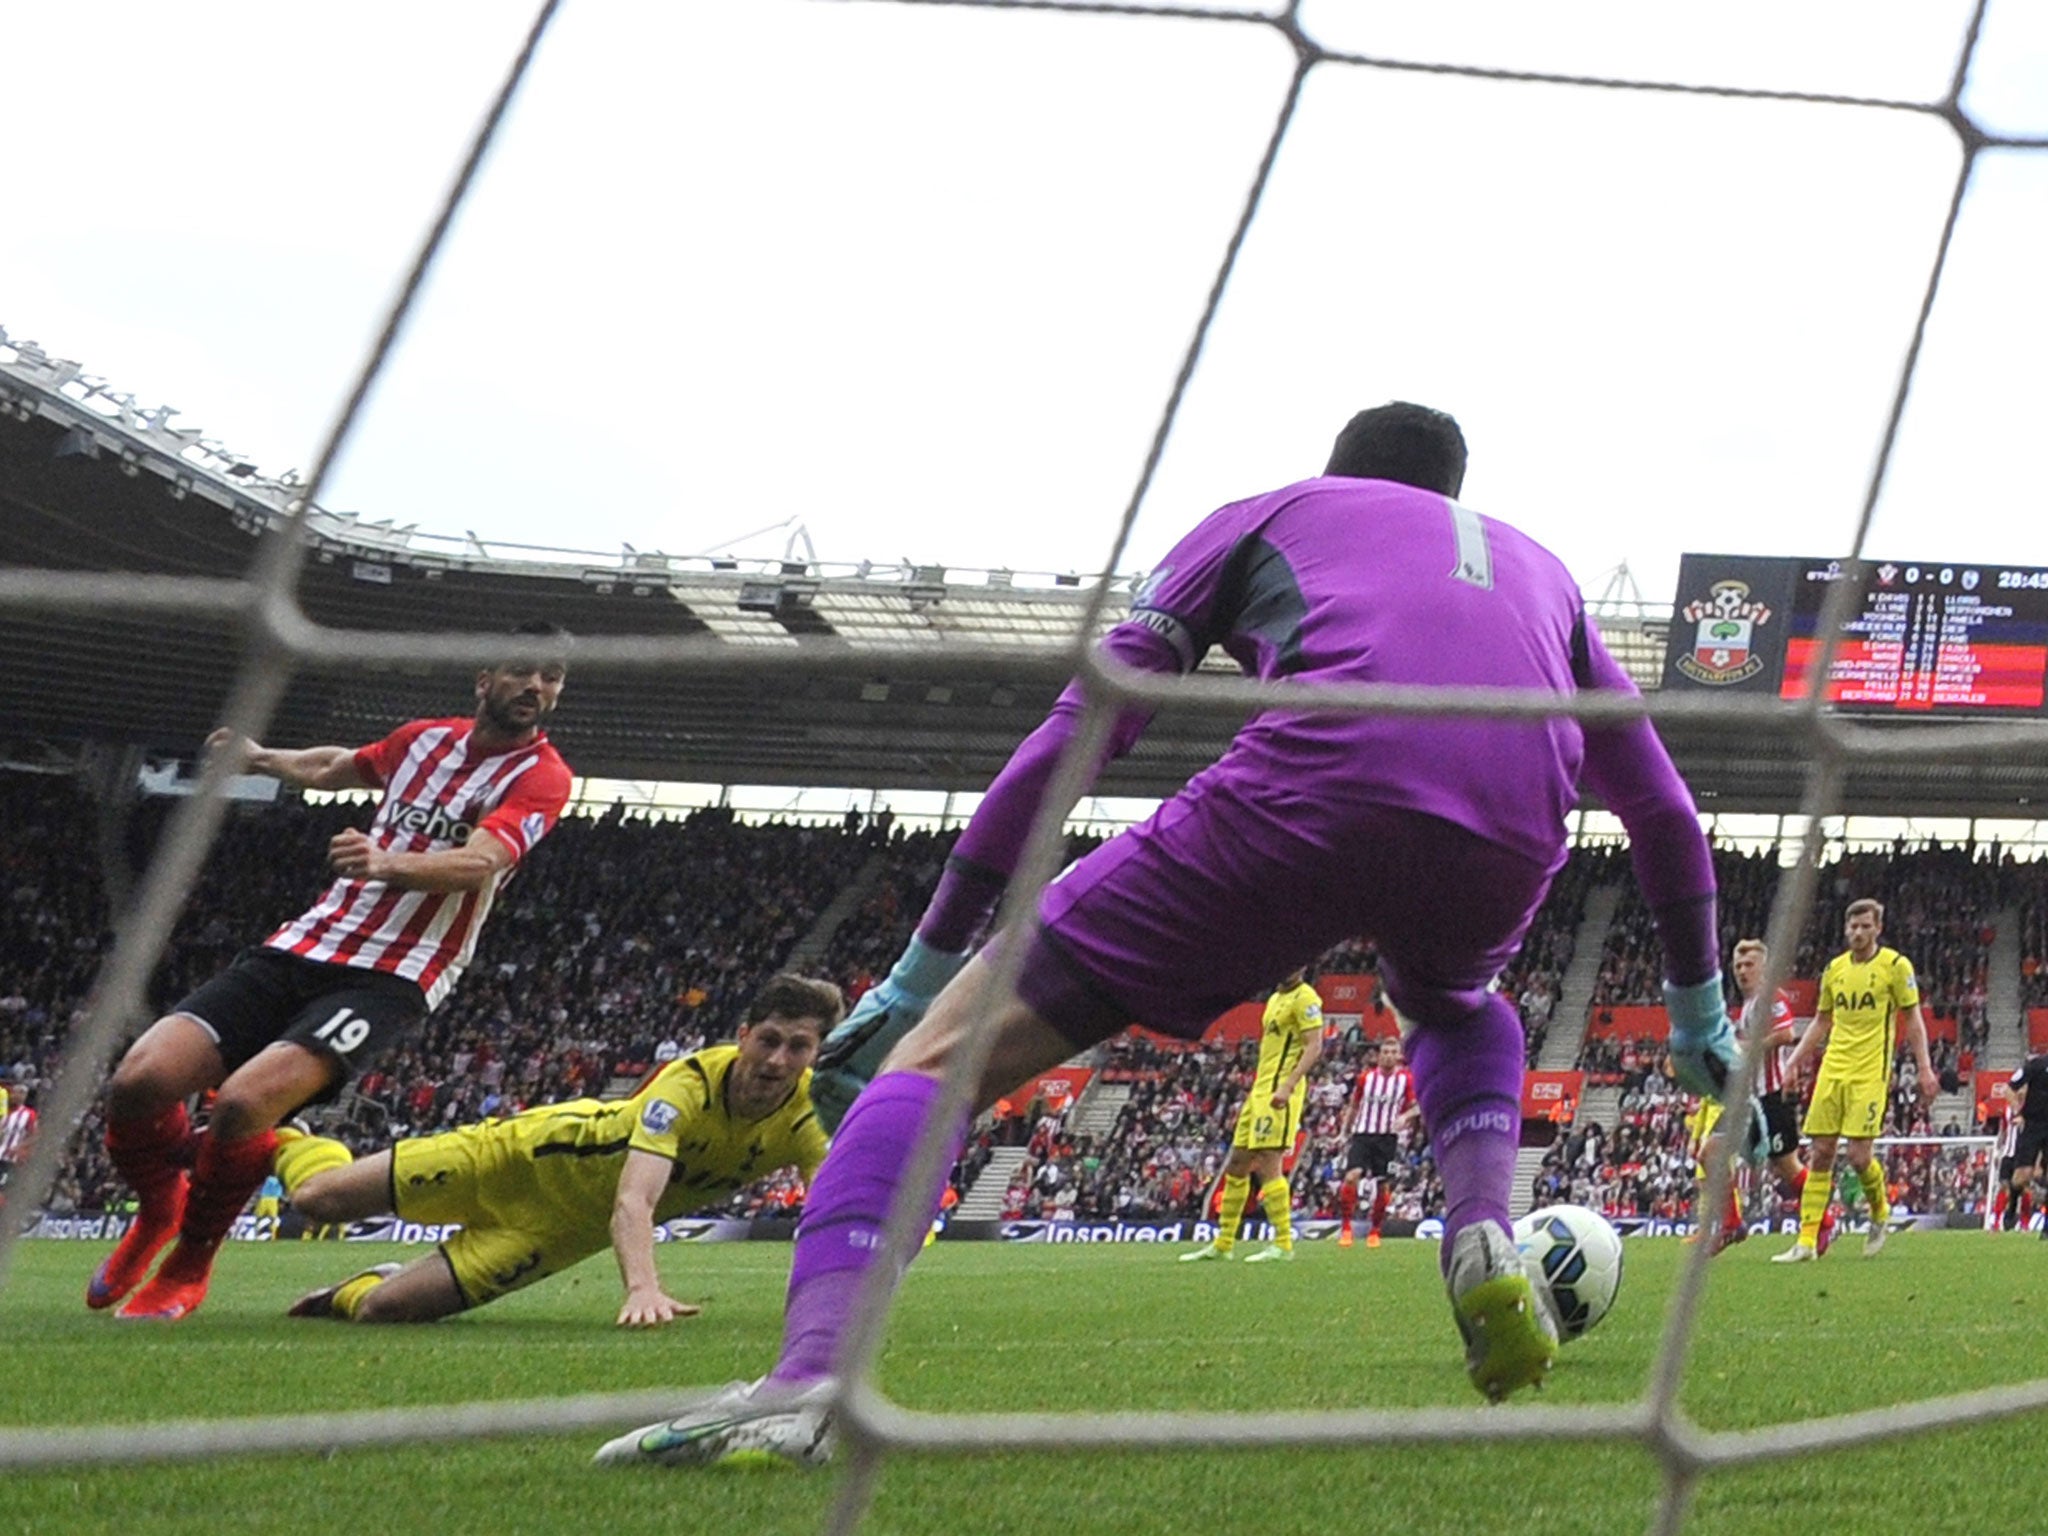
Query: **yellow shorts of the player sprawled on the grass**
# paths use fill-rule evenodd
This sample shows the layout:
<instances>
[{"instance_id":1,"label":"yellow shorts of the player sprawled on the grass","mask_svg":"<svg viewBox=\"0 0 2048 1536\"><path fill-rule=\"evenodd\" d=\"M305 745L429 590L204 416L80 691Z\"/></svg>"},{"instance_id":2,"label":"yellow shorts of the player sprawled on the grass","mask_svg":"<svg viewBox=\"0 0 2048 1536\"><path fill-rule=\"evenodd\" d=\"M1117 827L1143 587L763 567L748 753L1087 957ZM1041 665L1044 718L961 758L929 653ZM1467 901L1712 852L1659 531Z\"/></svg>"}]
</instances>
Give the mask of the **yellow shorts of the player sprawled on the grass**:
<instances>
[{"instance_id":1,"label":"yellow shorts of the player sprawled on the grass","mask_svg":"<svg viewBox=\"0 0 2048 1536\"><path fill-rule=\"evenodd\" d=\"M461 1223L440 1243L463 1303L487 1300L545 1280L610 1243L610 1210L563 1223L532 1196L532 1159L506 1122L414 1137L391 1149L391 1202L401 1221Z\"/></svg>"}]
</instances>

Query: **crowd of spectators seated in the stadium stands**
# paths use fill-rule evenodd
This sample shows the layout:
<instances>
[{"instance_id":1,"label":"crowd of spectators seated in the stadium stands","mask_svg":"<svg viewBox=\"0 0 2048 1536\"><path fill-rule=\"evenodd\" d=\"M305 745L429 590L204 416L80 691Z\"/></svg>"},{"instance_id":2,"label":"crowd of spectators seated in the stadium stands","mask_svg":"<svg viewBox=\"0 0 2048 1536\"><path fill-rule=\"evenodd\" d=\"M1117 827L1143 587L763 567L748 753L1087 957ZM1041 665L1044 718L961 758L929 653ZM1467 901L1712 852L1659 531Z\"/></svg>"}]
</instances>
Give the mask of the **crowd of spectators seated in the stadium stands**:
<instances>
[{"instance_id":1,"label":"crowd of spectators seated in the stadium stands","mask_svg":"<svg viewBox=\"0 0 2048 1536\"><path fill-rule=\"evenodd\" d=\"M109 831L74 778L0 774L0 817L8 827L0 840L0 1081L35 1094L57 1071L113 938L106 891L133 881L168 811L164 801L143 801ZM168 1006L303 909L322 887L328 840L367 815L365 803L285 799L236 807L152 981L152 1004ZM852 813L840 825L741 823L721 809L649 817L614 807L598 817L567 817L506 889L451 999L406 1049L342 1096L330 1128L373 1145L528 1104L616 1092L657 1063L727 1038L745 999L856 874L864 879L862 895L809 969L858 997L901 950L952 838ZM1077 842L1069 854L1090 846ZM1552 1022L1587 897L1622 881L1624 868L1620 848L1575 852L1503 975L1532 1061ZM1716 868L1724 940L1759 932L1776 893L1776 862L1720 850ZM2032 961L2028 997L2048 1001L2042 866L2015 868L1960 848L1845 858L1823 870L1802 969L1817 971L1833 952L1841 905L1866 893L1888 903L1886 936L1919 967L1929 1004L1960 1016L1960 1042L1935 1040L1937 1069L1968 1069L1972 1040L1980 1042L1989 918L2001 901L2021 907L2021 952ZM1597 999L1655 1001L1657 961L1649 913L1630 883L1604 938ZM1323 956L1331 971L1370 975L1374 967L1364 942ZM1341 1112L1366 1051L1358 1032L1331 1038L1311 1085L1309 1141L1294 1171L1296 1204L1307 1214L1335 1210ZM1057 1108L987 1128L954 1169L954 1188L973 1184L993 1145L1020 1137L1028 1159L1012 1190L1014 1214L1196 1217L1210 1200L1253 1057L1253 1042L1178 1049L1120 1036L1096 1063L1104 1081L1133 1087L1110 1133L1071 1135ZM1581 1067L1595 1081L1624 1085L1624 1118L1612 1128L1573 1126L1544 1171L1554 1188L1614 1210L1647 1206L1647 1214L1690 1202L1690 1159L1681 1141L1673 1143L1677 1114L1657 1077L1659 1057L1653 1040L1587 1040ZM1901 1102L1894 1128L1927 1126ZM1440 1204L1427 1149L1415 1143L1397 1169L1397 1217L1432 1214ZM78 1128L53 1202L90 1210L119 1198L94 1110ZM743 1194L735 1208L797 1202L801 1190L780 1180Z\"/></svg>"}]
</instances>

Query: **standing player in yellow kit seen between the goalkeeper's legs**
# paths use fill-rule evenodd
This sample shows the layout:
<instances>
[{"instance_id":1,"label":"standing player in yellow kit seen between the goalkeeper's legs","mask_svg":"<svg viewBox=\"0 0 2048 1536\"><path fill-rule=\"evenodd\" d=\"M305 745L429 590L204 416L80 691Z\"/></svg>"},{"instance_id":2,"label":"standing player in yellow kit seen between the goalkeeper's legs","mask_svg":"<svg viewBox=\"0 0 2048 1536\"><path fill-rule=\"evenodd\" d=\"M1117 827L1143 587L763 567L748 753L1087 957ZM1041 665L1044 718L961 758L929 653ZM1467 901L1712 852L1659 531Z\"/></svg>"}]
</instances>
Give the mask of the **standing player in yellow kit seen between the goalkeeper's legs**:
<instances>
[{"instance_id":1,"label":"standing player in yellow kit seen between the goalkeeper's legs","mask_svg":"<svg viewBox=\"0 0 2048 1536\"><path fill-rule=\"evenodd\" d=\"M1309 1073L1323 1055L1323 999L1309 985L1305 971L1290 973L1266 999L1260 1022L1260 1065L1251 1075L1245 1108L1237 1112L1237 1135L1223 1163L1223 1208L1217 1212L1217 1235L1182 1253L1180 1262L1227 1260L1237 1247L1237 1223L1251 1198L1251 1180L1260 1180L1260 1204L1274 1227L1274 1241L1251 1253L1245 1264L1294 1257L1294 1206L1282 1163L1294 1149L1300 1130L1300 1110L1309 1098Z\"/></svg>"}]
</instances>

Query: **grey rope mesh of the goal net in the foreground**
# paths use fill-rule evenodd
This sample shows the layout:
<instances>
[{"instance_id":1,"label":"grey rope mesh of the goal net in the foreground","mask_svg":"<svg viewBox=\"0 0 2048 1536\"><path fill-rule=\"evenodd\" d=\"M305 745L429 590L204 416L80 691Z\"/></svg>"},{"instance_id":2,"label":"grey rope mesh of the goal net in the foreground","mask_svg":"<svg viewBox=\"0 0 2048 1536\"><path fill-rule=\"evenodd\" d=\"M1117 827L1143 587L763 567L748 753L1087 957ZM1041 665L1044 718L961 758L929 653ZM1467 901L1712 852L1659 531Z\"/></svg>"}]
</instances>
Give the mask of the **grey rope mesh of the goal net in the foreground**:
<instances>
[{"instance_id":1,"label":"grey rope mesh of the goal net in the foreground","mask_svg":"<svg viewBox=\"0 0 2048 1536\"><path fill-rule=\"evenodd\" d=\"M1958 211L1970 180L1976 174L1987 150L2042 150L2048 139L2001 135L1985 131L1964 111L1964 88L1970 80L1970 66L1978 51L1978 37L1985 23L1985 4L1978 0L1968 16L1966 35L1956 55L1956 68L1946 92L1935 100L1894 100L1882 96L1855 96L1837 92L1776 90L1753 86L1692 84L1677 80L1630 80L1577 74L1552 74L1536 70L1483 68L1462 63L1430 63L1397 57L1372 57L1348 53L1321 45L1305 25L1300 0L1292 0L1278 10L1257 8L1204 8L1204 6L1145 6L1145 4L1071 4L1067 0L879 0L881 4L922 4L922 6L971 6L981 10L1044 10L1044 12L1100 12L1133 18L1180 18L1200 20L1217 27L1270 29L1286 39L1294 53L1294 70L1280 102L1278 115L1266 141L1266 152L1257 162L1257 172L1245 195L1241 213L1217 264L1208 297L1194 324L1182 356L1180 371L1159 412L1157 428L1145 453L1143 467L1130 498L1118 520L1108 557L1098 569L1116 571L1122 565L1137 522L1141 504L1153 483L1159 459L1174 432L1182 399L1200 365L1204 342L1223 303L1225 291L1237 266L1239 250L1247 231L1257 219L1262 199L1276 160L1280 158L1290 125L1294 123L1303 86L1317 70L1362 70L1362 72L1407 72L1425 76L1462 76L1483 82L1520 82L1571 86L1597 92L1663 92L1683 96L1722 96L1747 100L1804 102L1817 106L1841 106L1860 111L1913 113L1939 119L1960 143L1960 162L1942 223L1939 242L1929 264L1921 291L1919 313L1911 332L1911 342L1898 367L1892 389L1876 463L1872 467L1855 522L1841 541L1843 559L1851 573L1860 578L1862 555L1878 506L1878 496L1886 483L1892 461L1892 446L1905 412L1927 319L1942 287L1942 276L1950 260ZM188 578L137 578L100 573L53 573L53 571L0 571L0 606L6 608L61 608L70 612L121 612L147 614L164 623L178 618L211 616L242 621L248 633L238 678L225 709L225 723L233 729L260 737L272 711L276 709L289 680L297 670L334 670L360 664L432 664L461 662L475 655L475 647L489 637L481 635L401 635L360 631L338 631L307 618L295 602L295 578L305 559L305 508L317 502L328 471L336 455L346 444L360 406L379 377L395 338L412 313L420 285L432 266L442 236L457 209L469 193L477 168L481 166L508 104L520 88L526 70L549 33L555 18L557 0L547 0L532 20L524 47L504 76L500 92L485 113L469 154L451 182L440 213L432 229L420 244L418 258L408 270L397 297L389 305L385 326L369 356L356 373L342 412L338 414L326 442L317 455L315 469L305 485L305 496L295 514L279 532L264 539L254 569L240 582L188 580ZM1827 662L1839 643L1841 621L1849 616L1851 604L1862 598L1862 580L1835 582L1829 590L1827 608L1821 616L1819 635L1823 653L1808 670L1808 692L1798 700L1757 700L1757 698L1700 698L1700 696L1579 696L1571 700L1532 698L1528 694L1485 692L1485 690L1444 690L1444 688L1395 688L1395 686L1350 686L1315 688L1307 692L1284 682L1255 684L1217 676L1196 676L1161 680L1122 670L1110 662L1090 655L1085 637L1094 635L1110 600L1110 582L1104 578L1090 594L1085 621L1075 631L1073 668L1083 682L1087 709L1083 727L1077 731L1067 758L1057 774L1047 803L1032 831L1030 852L1020 879L1012 883L1006 897L1006 920L1014 920L1036 899L1038 889L1055 872L1061 846L1061 823L1083 791L1085 764L1094 760L1114 711L1128 702L1163 705L1174 702L1182 711L1204 711L1217 717L1245 717L1260 709L1278 705L1311 705L1317 711L1356 711L1386 715L1493 715L1493 717L1538 717L1573 715L1577 719L1622 719L1649 715L1651 719L1698 719L1726 723L1747 731L1776 731L1804 745L1810 768L1802 793L1804 842L1798 862L1780 885L1769 922L1769 948L1774 956L1790 956L1798 948L1798 928L1802 915L1812 907L1817 895L1819 856L1823 852L1823 819L1843 807L1843 786L1847 774L1864 762L1882 758L1903 760L1956 754L1987 756L2030 756L2042 748L2042 731L2032 725L1948 725L1931 731L1892 733L1843 721L1825 711L1821 684L1827 678ZM999 651L997 651L999 653ZM954 651L963 657L965 651ZM1010 657L1014 659L1014 657ZM750 672L756 668L801 666L809 674L870 674L879 666L903 666L907 670L928 668L930 653L905 647L864 647L854 653L836 653L805 647L754 649L719 647L692 643L688 639L633 639L594 637L580 645L580 668L621 668L651 670L690 666L715 672ZM205 860L205 854L221 825L223 766L209 766L201 793L186 801L174 815L158 852L145 872L133 915L123 926L119 942L109 954L76 1036L70 1044L63 1071L47 1104L51 1126L74 1124L88 1108L98 1087L100 1075L121 1038L145 1022L145 981L158 954L162 952L172 924L190 891L190 885ZM1006 965L1014 967L1022 946L1008 946ZM1004 977L1006 981L1012 977ZM1765 989L1778 985L1782 977L1767 977ZM1755 1042L1761 1049L1761 1036ZM827 1518L831 1532L856 1530L868 1509L874 1491L874 1477L883 1460L893 1452L987 1452L987 1450L1044 1450L1059 1452L1071 1448L1190 1448L1190 1446L1421 1446L1446 1442L1616 1442L1632 1440L1645 1446L1661 1466L1663 1493L1653 1513L1653 1530L1677 1532L1686 1522L1688 1503L1698 1479L1716 1468L1743 1466L1763 1460L1802 1456L1812 1450L1866 1444L1894 1436L1907 1436L1933 1427L1954 1427L1999 1419L2032 1409L2048 1407L2048 1380L2034 1380L2017 1386L1974 1391L1950 1397L1935 1397L1919 1403L1817 1417L1796 1423L1778 1423L1755 1432L1704 1432L1679 1405L1679 1386L1692 1354L1696 1317L1702 1288L1708 1276L1708 1243L1696 1243L1681 1270L1679 1284L1671 1298L1661 1348L1651 1370L1642 1397L1620 1407L1518 1407L1513 1411L1339 1411L1339 1413L922 1413L891 1403L874 1386L874 1358L883 1327L887 1323L891 1286L881 1276L893 1272L909 1260L922 1239L922 1210L928 1206L928 1192L936 1192L942 1178L942 1147L938 1126L950 1122L952 1114L967 1106L971 1083L977 1079L987 1040L971 1040L958 1053L944 1083L942 1112L930 1118L934 1135L918 1147L909 1178L905 1180L885 1237L885 1262L870 1272L872 1284L862 1298L854 1337L846 1358L844 1395L840 1403L842 1432L848 1446L848 1475L844 1477L836 1503ZM1737 1085L1737 1102L1745 1104L1747 1083L1755 1073L1751 1057ZM1735 1112L1741 1120L1747 1114ZM1735 1128L1741 1137L1741 1128ZM61 1135L43 1137L20 1169L12 1196L25 1208L41 1206L57 1163L63 1155ZM1716 1210L1722 1204L1726 1169L1710 1174L1710 1188L1704 1208ZM18 1231L14 1223L0 1225L0 1284L12 1255ZM561 1397L526 1403L473 1403L434 1405L422 1409L356 1411L356 1413L307 1413L297 1417L264 1419L207 1419L168 1421L147 1425L111 1427L70 1427L70 1430L0 1430L0 1466L53 1466L90 1464L137 1458L199 1458L229 1452L262 1450L307 1450L336 1446L387 1446L418 1444L426 1440L463 1440L475 1436L510 1436L532 1432L567 1432L616 1427L645 1417L657 1417L686 1407L682 1393L623 1393L594 1397Z\"/></svg>"}]
</instances>

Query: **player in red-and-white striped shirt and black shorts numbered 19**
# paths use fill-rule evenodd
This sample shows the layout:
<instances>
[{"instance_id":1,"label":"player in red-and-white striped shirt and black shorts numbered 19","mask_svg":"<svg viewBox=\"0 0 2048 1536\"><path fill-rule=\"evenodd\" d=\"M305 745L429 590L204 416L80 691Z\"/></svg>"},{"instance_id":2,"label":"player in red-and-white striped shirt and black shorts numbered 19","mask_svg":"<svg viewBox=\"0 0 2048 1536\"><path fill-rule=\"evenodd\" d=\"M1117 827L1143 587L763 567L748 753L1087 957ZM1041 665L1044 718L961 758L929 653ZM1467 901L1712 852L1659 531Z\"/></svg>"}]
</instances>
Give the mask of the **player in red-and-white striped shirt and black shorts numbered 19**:
<instances>
[{"instance_id":1,"label":"player in red-and-white striped shirt and black shorts numbered 19","mask_svg":"<svg viewBox=\"0 0 2048 1536\"><path fill-rule=\"evenodd\" d=\"M184 997L115 1067L106 1151L139 1210L86 1286L113 1307L172 1239L121 1317L172 1321L205 1300L213 1255L270 1171L274 1128L401 1040L455 985L514 866L561 815L569 768L541 729L561 698L567 635L524 625L477 674L471 719L412 721L367 748L207 737L297 788L381 788L369 831L328 844L334 883L297 922ZM217 1087L193 1139L184 1102ZM190 1163L190 1178L186 1178Z\"/></svg>"}]
</instances>

